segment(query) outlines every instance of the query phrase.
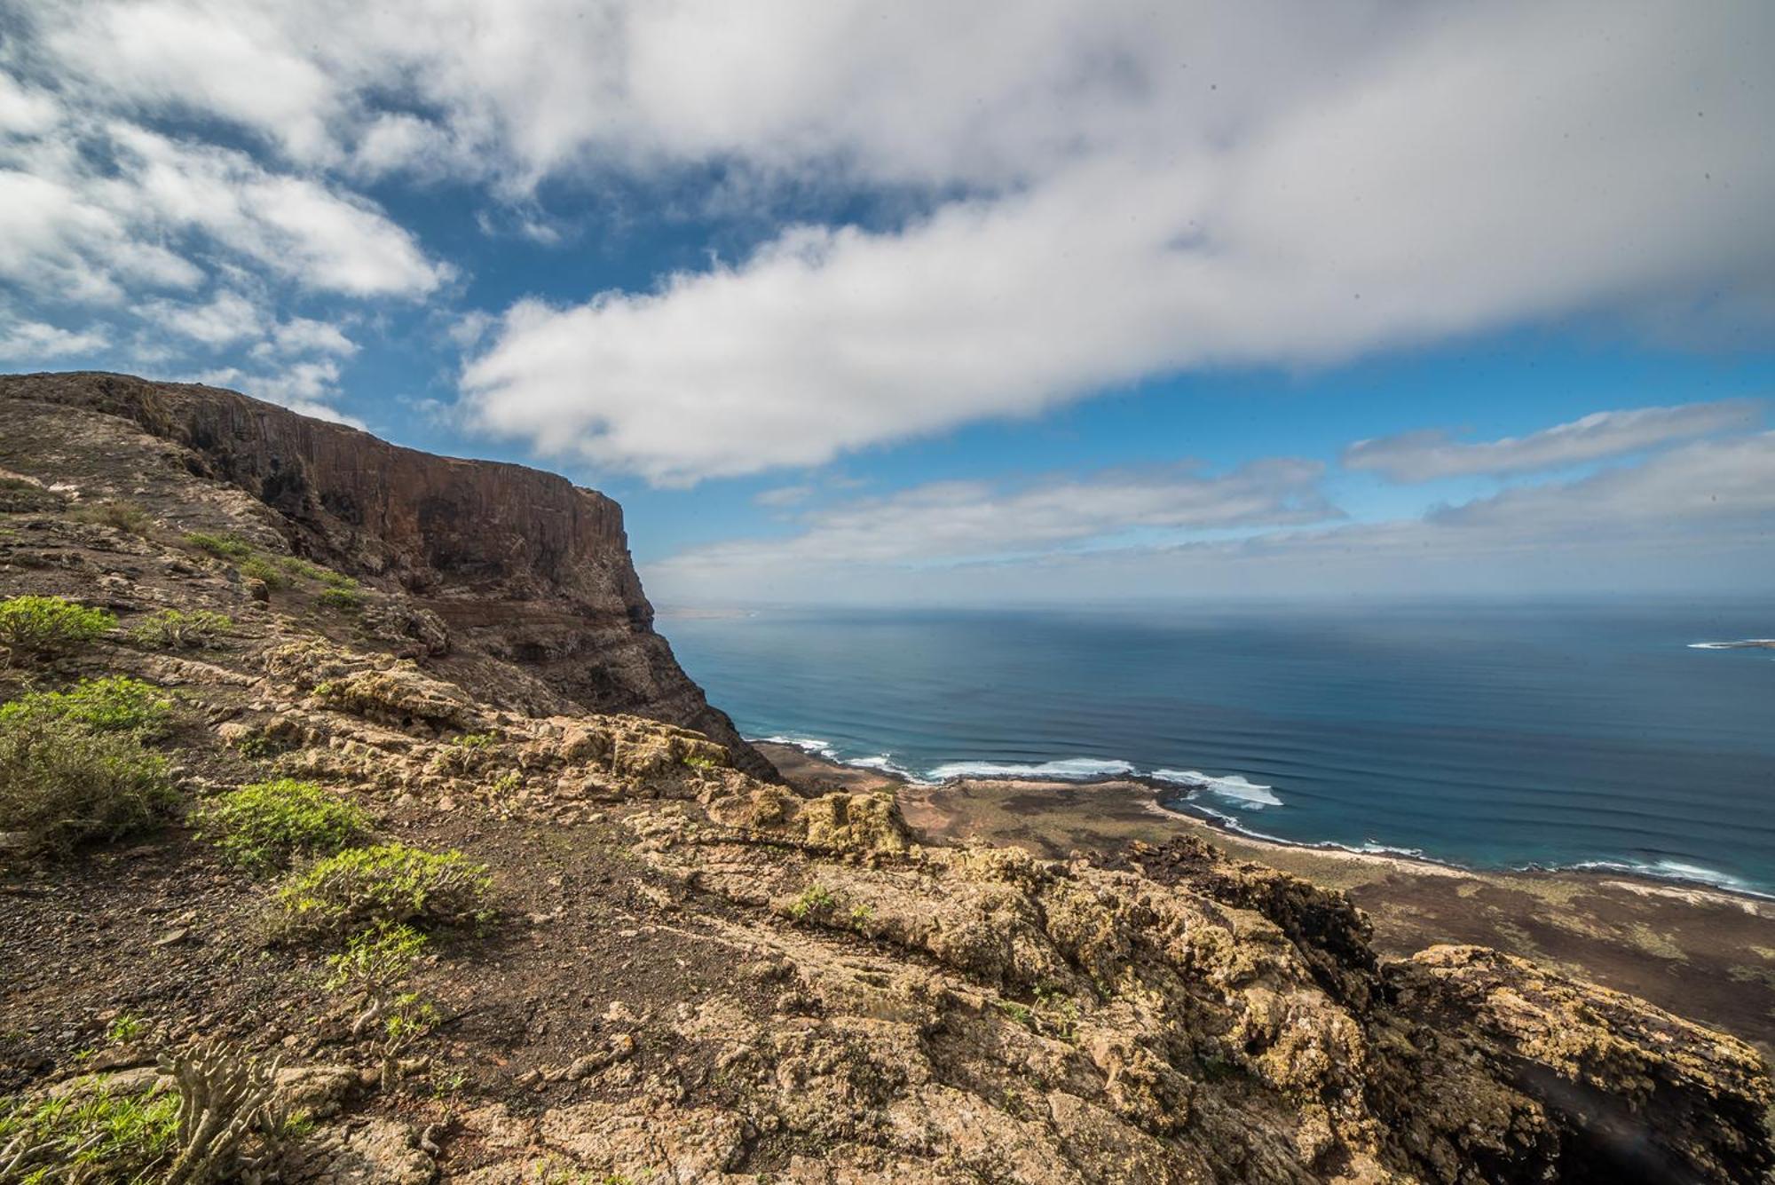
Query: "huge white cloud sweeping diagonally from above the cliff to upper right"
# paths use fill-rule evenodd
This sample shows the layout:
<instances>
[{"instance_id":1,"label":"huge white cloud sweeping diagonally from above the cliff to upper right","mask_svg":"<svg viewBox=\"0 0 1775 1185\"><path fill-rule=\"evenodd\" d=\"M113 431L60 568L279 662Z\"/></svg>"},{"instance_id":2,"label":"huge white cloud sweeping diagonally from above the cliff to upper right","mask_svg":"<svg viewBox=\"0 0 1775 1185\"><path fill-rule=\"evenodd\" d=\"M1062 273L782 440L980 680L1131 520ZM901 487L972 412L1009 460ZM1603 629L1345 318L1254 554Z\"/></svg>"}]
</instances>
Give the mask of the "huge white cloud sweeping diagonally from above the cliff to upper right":
<instances>
[{"instance_id":1,"label":"huge white cloud sweeping diagonally from above the cliff to upper right","mask_svg":"<svg viewBox=\"0 0 1775 1185\"><path fill-rule=\"evenodd\" d=\"M518 302L463 373L467 410L545 456L687 484L1030 415L1154 373L1324 364L1672 293L1763 305L1775 151L1761 46L1775 9L1502 4L1399 27L1361 51L1347 28L1319 55L1276 39L1303 69L1269 96L1253 78L1274 82L1274 62L1235 82L1239 59L1189 53L1163 21L1145 28L1152 46L1124 46L1122 92L1069 59L1106 128L1056 115L1047 129L1070 151L1047 151L1001 112L1012 122L989 121L989 140L1021 145L1019 184L895 231L793 227L655 293ZM1193 62L1195 82L1161 78L1156 46ZM857 53L870 50L832 69ZM712 73L690 87L699 115L698 89L724 76ZM1209 75L1228 78L1225 110L1200 92ZM1100 105L1093 87L1108 87ZM781 89L722 90L728 122L696 126L749 149L760 128L793 129L788 106L825 110L802 106L804 90L779 110ZM998 112L1005 96L989 98ZM896 153L856 112L832 119L843 128L822 122L809 144L831 133L884 172L985 176ZM937 121L948 147L973 144L964 122ZM662 142L685 126L667 121ZM758 153L770 163L781 149Z\"/></svg>"}]
</instances>

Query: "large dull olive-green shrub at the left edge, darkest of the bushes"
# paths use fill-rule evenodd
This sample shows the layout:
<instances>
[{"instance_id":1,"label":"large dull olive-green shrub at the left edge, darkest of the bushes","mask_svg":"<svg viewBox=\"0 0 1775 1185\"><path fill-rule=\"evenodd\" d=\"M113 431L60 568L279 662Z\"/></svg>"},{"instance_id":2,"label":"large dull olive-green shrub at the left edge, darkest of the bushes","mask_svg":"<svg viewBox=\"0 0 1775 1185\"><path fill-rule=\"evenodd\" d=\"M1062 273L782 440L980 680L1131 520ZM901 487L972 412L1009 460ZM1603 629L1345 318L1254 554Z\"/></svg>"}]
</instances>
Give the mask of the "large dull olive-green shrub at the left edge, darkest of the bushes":
<instances>
[{"instance_id":1,"label":"large dull olive-green shrub at the left edge, darkest of the bushes","mask_svg":"<svg viewBox=\"0 0 1775 1185\"><path fill-rule=\"evenodd\" d=\"M160 823L178 793L163 757L133 733L94 733L67 717L0 720L0 832L27 851L66 851Z\"/></svg>"}]
</instances>

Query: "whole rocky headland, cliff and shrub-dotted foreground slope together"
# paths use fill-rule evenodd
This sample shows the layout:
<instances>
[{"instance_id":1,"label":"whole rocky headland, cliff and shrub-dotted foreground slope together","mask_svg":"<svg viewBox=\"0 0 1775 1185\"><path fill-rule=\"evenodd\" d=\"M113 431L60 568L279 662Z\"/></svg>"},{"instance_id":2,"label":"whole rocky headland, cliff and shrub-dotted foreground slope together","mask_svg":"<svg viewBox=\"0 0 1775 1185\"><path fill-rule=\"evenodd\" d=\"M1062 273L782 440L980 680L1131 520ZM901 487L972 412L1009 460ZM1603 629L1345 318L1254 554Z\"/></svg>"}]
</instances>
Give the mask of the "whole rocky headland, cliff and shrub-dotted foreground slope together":
<instances>
[{"instance_id":1,"label":"whole rocky headland, cliff and shrub-dotted foreground slope together","mask_svg":"<svg viewBox=\"0 0 1775 1185\"><path fill-rule=\"evenodd\" d=\"M460 463L201 388L5 390L7 1185L1775 1165L1757 1052L1645 1001L1473 946L1383 958L1342 892L1202 841L937 843L891 786L588 711L568 660L497 647L532 607L552 639L628 603L595 495L509 467L440 493ZM554 498L545 541L501 483ZM502 525L431 530L426 490Z\"/></svg>"}]
</instances>

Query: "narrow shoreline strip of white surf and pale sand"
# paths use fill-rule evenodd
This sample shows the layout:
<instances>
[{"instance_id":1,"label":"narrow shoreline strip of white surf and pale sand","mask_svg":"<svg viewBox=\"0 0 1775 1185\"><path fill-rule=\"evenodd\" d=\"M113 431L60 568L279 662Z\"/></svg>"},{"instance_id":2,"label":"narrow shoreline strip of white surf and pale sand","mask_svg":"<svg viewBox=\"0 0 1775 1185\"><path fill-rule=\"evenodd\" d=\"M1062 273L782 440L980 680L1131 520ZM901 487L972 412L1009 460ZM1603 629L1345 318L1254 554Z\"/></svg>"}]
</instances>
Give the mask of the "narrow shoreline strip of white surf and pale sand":
<instances>
[{"instance_id":1,"label":"narrow shoreline strip of white surf and pale sand","mask_svg":"<svg viewBox=\"0 0 1775 1185\"><path fill-rule=\"evenodd\" d=\"M1219 816L1212 811L1203 811L1203 814L1193 814L1187 811L1177 811L1164 805L1166 797L1179 797L1184 789L1180 784L1168 782L1147 773L1099 773L1086 777L1024 777L1015 773L976 773L976 775L955 775L944 779L921 779L907 773L905 770L895 768L891 765L868 765L841 761L829 756L824 749L813 749L813 742L788 740L783 736L770 738L747 738L747 742L763 752L772 763L783 770L783 761L779 757L795 763L806 763L831 775L843 775L845 782L893 782L900 788L900 798L907 793L943 789L946 786L966 786L966 784L996 784L1005 788L1019 788L1030 793L1042 791L1067 791L1067 789L1095 789L1095 791L1116 791L1127 788L1140 788L1147 797L1143 807L1156 818L1172 820L1186 827L1205 830L1211 837L1219 839L1223 844L1232 843L1241 848L1253 848L1257 851L1276 851L1276 853L1314 853L1331 860L1353 860L1365 862L1381 867L1392 867L1399 871L1409 871L1415 875L1448 875L1448 876L1475 876L1475 878L1598 878L1605 882L1621 882L1635 885L1644 892L1663 892L1676 894L1683 899L1713 899L1718 903L1732 903L1748 908L1764 906L1766 915L1775 919L1775 894L1761 892L1755 889L1738 889L1732 885L1722 885L1716 882L1665 875L1660 876L1649 871L1638 871L1633 867L1613 866L1598 860L1594 866L1557 866L1557 867L1475 867L1470 864L1459 864L1456 860L1440 860L1436 857L1424 855L1422 851L1406 851L1399 848L1384 848L1377 851L1365 851L1361 848L1351 848L1347 844L1333 841L1301 841L1301 839L1282 839L1278 836L1266 836L1251 832L1241 827L1237 821ZM792 777L786 770L783 775ZM1203 818L1205 816L1205 818ZM1278 860L1266 860L1276 864ZM1285 857L1283 857L1285 862Z\"/></svg>"}]
</instances>

